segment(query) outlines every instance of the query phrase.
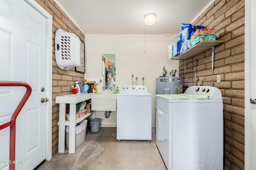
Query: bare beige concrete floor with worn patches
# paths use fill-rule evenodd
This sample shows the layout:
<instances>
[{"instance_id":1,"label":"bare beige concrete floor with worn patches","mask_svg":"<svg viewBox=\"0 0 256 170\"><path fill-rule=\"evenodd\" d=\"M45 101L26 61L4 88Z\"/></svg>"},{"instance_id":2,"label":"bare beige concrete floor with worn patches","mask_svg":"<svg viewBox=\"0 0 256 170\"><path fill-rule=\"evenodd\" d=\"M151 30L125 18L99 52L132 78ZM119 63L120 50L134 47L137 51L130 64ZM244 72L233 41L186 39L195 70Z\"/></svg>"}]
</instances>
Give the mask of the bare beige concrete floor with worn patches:
<instances>
[{"instance_id":1,"label":"bare beige concrete floor with worn patches","mask_svg":"<svg viewBox=\"0 0 256 170\"><path fill-rule=\"evenodd\" d=\"M85 142L74 154L56 153L38 170L166 170L156 147L155 128L152 141L117 141L116 127L101 127L92 133L86 129Z\"/></svg>"}]
</instances>

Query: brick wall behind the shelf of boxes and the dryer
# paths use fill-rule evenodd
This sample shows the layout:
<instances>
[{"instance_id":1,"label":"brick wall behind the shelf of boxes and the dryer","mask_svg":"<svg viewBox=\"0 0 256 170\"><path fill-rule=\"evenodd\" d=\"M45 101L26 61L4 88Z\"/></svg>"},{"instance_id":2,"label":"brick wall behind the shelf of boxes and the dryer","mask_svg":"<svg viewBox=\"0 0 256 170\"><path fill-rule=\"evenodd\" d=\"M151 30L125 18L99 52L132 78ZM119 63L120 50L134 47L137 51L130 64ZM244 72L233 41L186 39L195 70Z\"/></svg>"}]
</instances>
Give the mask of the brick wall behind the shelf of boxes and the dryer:
<instances>
[{"instance_id":1,"label":"brick wall behind the shelf of boxes and the dryer","mask_svg":"<svg viewBox=\"0 0 256 170\"><path fill-rule=\"evenodd\" d=\"M216 0L193 25L215 28L217 40L224 43L215 48L214 70L212 50L180 61L184 87L194 86L198 75L203 85L220 89L224 113L225 169L244 169L244 0ZM216 82L221 76L221 83Z\"/></svg>"}]
</instances>

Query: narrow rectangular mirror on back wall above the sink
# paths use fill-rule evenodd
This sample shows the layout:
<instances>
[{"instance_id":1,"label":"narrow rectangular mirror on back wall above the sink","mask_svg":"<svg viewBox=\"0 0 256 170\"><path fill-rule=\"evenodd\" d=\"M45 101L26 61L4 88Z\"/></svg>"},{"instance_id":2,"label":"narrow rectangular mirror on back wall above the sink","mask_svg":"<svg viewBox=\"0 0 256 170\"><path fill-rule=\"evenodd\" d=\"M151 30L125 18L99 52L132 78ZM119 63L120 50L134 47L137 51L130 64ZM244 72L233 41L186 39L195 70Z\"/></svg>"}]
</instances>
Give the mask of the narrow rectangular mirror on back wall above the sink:
<instances>
[{"instance_id":1,"label":"narrow rectangular mirror on back wall above the sink","mask_svg":"<svg viewBox=\"0 0 256 170\"><path fill-rule=\"evenodd\" d=\"M113 89L116 84L116 55L102 54L102 88Z\"/></svg>"}]
</instances>

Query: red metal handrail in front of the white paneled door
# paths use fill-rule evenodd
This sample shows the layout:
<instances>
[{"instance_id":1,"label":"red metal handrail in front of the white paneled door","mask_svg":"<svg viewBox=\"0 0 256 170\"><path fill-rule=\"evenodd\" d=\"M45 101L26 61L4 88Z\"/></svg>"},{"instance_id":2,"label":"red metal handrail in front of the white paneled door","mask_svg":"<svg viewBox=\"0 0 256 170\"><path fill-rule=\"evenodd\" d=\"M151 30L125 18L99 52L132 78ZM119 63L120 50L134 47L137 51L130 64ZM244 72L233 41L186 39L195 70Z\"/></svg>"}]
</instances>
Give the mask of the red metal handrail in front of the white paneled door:
<instances>
[{"instance_id":1,"label":"red metal handrail in front of the white paneled door","mask_svg":"<svg viewBox=\"0 0 256 170\"><path fill-rule=\"evenodd\" d=\"M16 118L20 113L22 107L28 100L32 88L28 83L25 82L15 82L15 81L0 81L0 86L24 86L26 87L26 93L24 94L23 98L20 100L20 103L14 110L11 120L3 125L0 125L0 130L10 126L10 170L15 170L15 140L16 140Z\"/></svg>"}]
</instances>

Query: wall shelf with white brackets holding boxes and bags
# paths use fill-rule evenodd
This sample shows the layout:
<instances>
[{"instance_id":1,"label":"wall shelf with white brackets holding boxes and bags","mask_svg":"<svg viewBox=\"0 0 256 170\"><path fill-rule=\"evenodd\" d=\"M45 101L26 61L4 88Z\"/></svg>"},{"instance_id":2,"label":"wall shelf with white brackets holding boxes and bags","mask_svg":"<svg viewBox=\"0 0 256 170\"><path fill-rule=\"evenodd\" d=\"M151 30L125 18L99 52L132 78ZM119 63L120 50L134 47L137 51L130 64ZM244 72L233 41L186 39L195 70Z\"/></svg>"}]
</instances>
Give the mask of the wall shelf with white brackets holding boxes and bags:
<instances>
[{"instance_id":1,"label":"wall shelf with white brackets holding boxes and bags","mask_svg":"<svg viewBox=\"0 0 256 170\"><path fill-rule=\"evenodd\" d=\"M195 55L198 55L200 53L203 53L204 51L208 49L212 49L212 70L213 70L213 63L214 63L214 47L217 45L222 44L223 40L218 41L201 41L198 44L194 45L184 53L178 55L172 60L184 60L185 61L185 74L186 74L186 59L189 59L191 57L194 57Z\"/></svg>"}]
</instances>

